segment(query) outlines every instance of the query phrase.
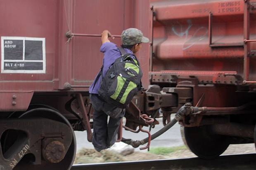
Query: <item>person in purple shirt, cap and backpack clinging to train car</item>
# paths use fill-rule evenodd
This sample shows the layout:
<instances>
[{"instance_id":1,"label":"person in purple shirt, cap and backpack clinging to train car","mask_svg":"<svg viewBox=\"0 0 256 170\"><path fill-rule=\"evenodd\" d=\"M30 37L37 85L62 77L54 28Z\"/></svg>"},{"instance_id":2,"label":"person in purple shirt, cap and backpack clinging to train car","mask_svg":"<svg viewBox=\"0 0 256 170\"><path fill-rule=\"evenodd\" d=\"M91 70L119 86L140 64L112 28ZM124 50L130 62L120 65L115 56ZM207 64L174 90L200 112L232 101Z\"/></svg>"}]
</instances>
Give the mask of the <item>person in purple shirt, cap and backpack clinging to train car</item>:
<instances>
[{"instance_id":1,"label":"person in purple shirt, cap and backpack clinging to train car","mask_svg":"<svg viewBox=\"0 0 256 170\"><path fill-rule=\"evenodd\" d=\"M109 37L111 33L104 30L100 47L104 53L103 65L89 88L94 109L92 144L97 151L111 147L117 140L125 107L142 86L142 72L135 54L142 42L149 42L136 28L123 30L121 48L110 42Z\"/></svg>"}]
</instances>

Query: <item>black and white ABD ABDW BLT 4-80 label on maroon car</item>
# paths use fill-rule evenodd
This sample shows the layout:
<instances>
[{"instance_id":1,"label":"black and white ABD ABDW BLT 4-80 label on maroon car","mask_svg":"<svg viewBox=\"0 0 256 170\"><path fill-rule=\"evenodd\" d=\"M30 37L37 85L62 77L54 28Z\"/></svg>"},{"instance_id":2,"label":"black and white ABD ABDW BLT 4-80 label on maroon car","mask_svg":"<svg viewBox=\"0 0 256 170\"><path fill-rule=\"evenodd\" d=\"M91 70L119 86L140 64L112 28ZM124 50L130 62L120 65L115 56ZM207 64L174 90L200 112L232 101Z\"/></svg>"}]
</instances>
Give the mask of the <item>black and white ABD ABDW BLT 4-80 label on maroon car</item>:
<instances>
[{"instance_id":1,"label":"black and white ABD ABDW BLT 4-80 label on maroon car","mask_svg":"<svg viewBox=\"0 0 256 170\"><path fill-rule=\"evenodd\" d=\"M45 38L1 37L1 73L45 73Z\"/></svg>"}]
</instances>

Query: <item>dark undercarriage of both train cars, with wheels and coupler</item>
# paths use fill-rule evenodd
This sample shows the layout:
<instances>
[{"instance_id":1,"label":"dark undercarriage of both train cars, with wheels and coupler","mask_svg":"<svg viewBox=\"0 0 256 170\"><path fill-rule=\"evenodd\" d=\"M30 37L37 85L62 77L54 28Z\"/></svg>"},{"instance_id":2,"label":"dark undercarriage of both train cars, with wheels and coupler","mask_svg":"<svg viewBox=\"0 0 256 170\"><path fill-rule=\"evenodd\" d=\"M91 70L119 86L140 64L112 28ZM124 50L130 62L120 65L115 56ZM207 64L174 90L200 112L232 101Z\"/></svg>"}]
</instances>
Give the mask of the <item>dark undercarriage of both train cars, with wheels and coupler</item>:
<instances>
[{"instance_id":1,"label":"dark undercarriage of both train cars, with wheels and coupler","mask_svg":"<svg viewBox=\"0 0 256 170\"><path fill-rule=\"evenodd\" d=\"M178 122L185 144L200 158L215 158L229 144L254 143L253 86L202 84L194 78L175 81L176 84L152 83L135 96L126 109L126 124L120 125L119 142L133 147L147 144L141 148L146 149L151 140ZM87 130L87 140L91 141L92 113L86 92L35 93L25 112L1 114L1 168L70 168L76 153L73 130ZM171 119L171 114L175 114L175 119ZM151 134L150 130L159 124L156 118L160 117L164 127ZM126 139L122 129L145 132L148 137Z\"/></svg>"}]
</instances>

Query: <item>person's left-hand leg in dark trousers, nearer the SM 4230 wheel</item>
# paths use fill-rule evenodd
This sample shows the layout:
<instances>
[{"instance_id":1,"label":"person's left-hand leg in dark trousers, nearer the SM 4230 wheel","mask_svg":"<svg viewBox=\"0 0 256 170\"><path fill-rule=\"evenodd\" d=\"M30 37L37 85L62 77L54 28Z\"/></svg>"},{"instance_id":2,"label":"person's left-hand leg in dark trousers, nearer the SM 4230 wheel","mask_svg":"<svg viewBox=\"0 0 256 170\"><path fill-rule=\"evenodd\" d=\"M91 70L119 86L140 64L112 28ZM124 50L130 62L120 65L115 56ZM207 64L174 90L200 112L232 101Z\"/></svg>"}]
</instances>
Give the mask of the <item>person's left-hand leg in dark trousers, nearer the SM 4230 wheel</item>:
<instances>
[{"instance_id":1,"label":"person's left-hand leg in dark trousers, nearer the SM 4230 wheel","mask_svg":"<svg viewBox=\"0 0 256 170\"><path fill-rule=\"evenodd\" d=\"M91 96L93 113L92 144L97 151L107 149L107 115L102 111L103 103L96 95Z\"/></svg>"}]
</instances>

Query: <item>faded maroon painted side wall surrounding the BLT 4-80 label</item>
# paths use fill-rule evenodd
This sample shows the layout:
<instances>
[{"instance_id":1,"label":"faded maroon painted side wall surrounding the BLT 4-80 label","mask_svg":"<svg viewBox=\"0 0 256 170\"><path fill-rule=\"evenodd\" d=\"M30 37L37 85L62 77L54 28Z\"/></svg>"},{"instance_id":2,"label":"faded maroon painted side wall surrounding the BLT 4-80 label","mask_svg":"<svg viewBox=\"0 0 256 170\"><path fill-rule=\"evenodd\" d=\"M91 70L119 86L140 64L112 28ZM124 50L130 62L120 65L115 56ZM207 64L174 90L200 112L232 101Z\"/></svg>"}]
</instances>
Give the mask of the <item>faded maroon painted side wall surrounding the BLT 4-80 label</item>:
<instances>
[{"instance_id":1,"label":"faded maroon painted side wall surrounding the BLT 4-80 label","mask_svg":"<svg viewBox=\"0 0 256 170\"><path fill-rule=\"evenodd\" d=\"M101 34L107 29L120 35L135 27L149 37L148 0L0 0L0 4L0 36L42 37L46 46L46 74L0 74L1 90L58 91L69 84L88 87L102 65L100 37L73 37L66 43L69 30ZM119 37L113 42L121 45ZM149 43L142 45L137 56L147 88Z\"/></svg>"}]
</instances>

